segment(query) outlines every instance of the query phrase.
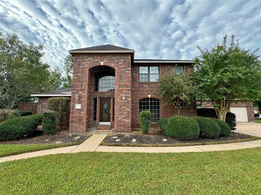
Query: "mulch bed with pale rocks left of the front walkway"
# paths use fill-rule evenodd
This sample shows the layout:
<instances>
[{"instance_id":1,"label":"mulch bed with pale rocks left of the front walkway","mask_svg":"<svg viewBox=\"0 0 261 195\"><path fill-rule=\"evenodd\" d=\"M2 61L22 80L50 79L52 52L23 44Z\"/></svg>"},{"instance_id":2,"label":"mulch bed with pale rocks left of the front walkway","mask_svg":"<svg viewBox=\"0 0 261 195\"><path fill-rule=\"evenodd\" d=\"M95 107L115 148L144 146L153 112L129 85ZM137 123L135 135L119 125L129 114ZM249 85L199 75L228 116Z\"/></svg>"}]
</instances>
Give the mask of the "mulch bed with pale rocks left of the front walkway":
<instances>
[{"instance_id":1,"label":"mulch bed with pale rocks left of the front walkway","mask_svg":"<svg viewBox=\"0 0 261 195\"><path fill-rule=\"evenodd\" d=\"M46 135L42 131L37 131L31 137L20 140L1 141L0 144L69 144L86 140L91 136L88 134L73 134L72 138L68 138L67 133L68 131L57 130L54 135ZM80 138L75 140L76 136L80 136Z\"/></svg>"}]
</instances>

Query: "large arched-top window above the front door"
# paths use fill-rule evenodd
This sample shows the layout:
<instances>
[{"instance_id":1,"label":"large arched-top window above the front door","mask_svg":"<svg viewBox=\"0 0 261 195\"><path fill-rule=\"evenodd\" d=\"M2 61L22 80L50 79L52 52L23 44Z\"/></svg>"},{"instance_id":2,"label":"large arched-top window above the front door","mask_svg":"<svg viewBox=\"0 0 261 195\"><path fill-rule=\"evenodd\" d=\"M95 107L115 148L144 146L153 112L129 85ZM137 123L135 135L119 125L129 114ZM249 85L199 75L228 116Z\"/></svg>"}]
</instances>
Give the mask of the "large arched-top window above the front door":
<instances>
[{"instance_id":1,"label":"large arched-top window above the front door","mask_svg":"<svg viewBox=\"0 0 261 195\"><path fill-rule=\"evenodd\" d=\"M94 91L111 92L115 89L115 73L97 73L95 75Z\"/></svg>"}]
</instances>

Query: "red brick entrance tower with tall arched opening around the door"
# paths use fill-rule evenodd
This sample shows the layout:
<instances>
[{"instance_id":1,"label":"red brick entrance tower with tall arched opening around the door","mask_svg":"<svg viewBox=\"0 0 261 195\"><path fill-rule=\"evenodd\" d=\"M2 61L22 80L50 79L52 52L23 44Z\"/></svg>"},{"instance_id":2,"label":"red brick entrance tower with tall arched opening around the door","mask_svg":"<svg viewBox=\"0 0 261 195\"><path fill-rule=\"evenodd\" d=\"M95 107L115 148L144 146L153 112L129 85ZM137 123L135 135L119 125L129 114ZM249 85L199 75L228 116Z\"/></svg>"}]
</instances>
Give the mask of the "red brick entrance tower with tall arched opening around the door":
<instances>
[{"instance_id":1,"label":"red brick entrance tower with tall arched opening around the door","mask_svg":"<svg viewBox=\"0 0 261 195\"><path fill-rule=\"evenodd\" d=\"M103 68L115 71L114 92L93 91L93 75ZM75 100L76 94L79 101ZM126 95L125 102L122 101L122 94ZM92 121L94 97L115 97L114 131L131 131L131 55L74 56L70 132L85 132L88 127L98 125L97 121ZM81 104L81 109L75 109L75 104Z\"/></svg>"}]
</instances>

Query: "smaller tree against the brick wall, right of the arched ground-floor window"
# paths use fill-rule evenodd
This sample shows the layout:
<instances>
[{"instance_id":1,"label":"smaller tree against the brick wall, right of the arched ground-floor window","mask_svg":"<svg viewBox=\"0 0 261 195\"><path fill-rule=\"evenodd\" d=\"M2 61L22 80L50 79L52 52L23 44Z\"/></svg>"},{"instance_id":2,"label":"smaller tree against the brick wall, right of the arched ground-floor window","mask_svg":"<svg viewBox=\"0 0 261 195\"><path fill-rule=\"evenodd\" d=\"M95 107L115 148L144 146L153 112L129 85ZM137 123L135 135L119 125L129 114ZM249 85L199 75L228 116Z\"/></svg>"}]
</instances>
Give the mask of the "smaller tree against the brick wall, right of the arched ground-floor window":
<instances>
[{"instance_id":1,"label":"smaller tree against the brick wall, right of the arched ground-floor window","mask_svg":"<svg viewBox=\"0 0 261 195\"><path fill-rule=\"evenodd\" d=\"M177 65L176 65L177 66ZM181 113L181 103L190 104L193 99L194 87L190 79L191 72L182 72L177 74L177 70L166 75L160 75L158 79L158 96L163 99L163 106L172 105L175 115Z\"/></svg>"}]
</instances>

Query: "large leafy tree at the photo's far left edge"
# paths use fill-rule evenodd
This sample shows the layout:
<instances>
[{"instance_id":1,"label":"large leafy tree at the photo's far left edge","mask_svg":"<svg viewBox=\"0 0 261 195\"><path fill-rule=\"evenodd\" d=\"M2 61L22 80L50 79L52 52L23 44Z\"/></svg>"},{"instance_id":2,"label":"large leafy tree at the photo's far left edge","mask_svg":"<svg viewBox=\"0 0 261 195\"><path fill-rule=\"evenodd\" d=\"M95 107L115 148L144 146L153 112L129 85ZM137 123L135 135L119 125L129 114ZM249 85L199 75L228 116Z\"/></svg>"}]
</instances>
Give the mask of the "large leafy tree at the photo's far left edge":
<instances>
[{"instance_id":1,"label":"large leafy tree at the photo's far left edge","mask_svg":"<svg viewBox=\"0 0 261 195\"><path fill-rule=\"evenodd\" d=\"M0 32L0 107L15 108L19 102L32 102L33 93L61 86L60 73L41 60L43 47Z\"/></svg>"}]
</instances>

